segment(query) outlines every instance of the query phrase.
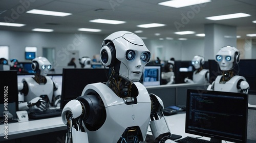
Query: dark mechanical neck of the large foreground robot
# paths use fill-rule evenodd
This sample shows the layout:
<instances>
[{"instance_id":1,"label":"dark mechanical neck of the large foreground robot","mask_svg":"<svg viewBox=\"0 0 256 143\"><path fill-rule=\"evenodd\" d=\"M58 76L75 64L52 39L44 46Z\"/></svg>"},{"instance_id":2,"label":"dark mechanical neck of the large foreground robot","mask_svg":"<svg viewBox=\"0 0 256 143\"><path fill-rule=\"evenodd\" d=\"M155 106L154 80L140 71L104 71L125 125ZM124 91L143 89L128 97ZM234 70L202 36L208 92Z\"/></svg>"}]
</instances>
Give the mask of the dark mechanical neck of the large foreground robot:
<instances>
[{"instance_id":1,"label":"dark mechanical neck of the large foreground robot","mask_svg":"<svg viewBox=\"0 0 256 143\"><path fill-rule=\"evenodd\" d=\"M110 79L110 88L121 98L131 97L132 82L120 77L114 70L112 70Z\"/></svg>"}]
</instances>

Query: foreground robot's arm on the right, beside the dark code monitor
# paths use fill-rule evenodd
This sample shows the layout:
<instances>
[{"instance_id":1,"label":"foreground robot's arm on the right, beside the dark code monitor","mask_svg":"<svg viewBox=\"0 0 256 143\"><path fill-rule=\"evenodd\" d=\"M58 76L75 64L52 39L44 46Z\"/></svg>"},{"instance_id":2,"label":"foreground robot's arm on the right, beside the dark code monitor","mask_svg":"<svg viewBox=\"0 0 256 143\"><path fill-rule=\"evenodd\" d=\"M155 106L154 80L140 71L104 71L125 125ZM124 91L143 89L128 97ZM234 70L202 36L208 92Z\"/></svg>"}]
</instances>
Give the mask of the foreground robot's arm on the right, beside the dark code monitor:
<instances>
[{"instance_id":1,"label":"foreground robot's arm on the right, beside the dark code monitor","mask_svg":"<svg viewBox=\"0 0 256 143\"><path fill-rule=\"evenodd\" d=\"M150 128L155 139L155 142L171 142L171 133L168 127L168 124L163 115L163 102L162 100L154 95L150 94L152 102L152 111L151 111L151 123Z\"/></svg>"}]
</instances>

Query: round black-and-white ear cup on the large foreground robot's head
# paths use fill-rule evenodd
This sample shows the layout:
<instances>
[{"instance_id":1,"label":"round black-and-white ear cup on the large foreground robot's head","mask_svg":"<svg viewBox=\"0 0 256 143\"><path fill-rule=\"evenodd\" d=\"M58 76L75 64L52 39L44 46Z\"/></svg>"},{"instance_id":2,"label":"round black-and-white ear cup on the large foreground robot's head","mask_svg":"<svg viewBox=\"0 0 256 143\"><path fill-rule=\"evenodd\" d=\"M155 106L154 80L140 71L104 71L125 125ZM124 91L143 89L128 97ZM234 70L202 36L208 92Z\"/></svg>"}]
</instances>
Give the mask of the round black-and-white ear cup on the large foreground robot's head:
<instances>
[{"instance_id":1,"label":"round black-and-white ear cup on the large foreground robot's head","mask_svg":"<svg viewBox=\"0 0 256 143\"><path fill-rule=\"evenodd\" d=\"M115 56L115 49L111 45L103 46L100 49L100 61L106 67L112 67L114 65Z\"/></svg>"}]
</instances>

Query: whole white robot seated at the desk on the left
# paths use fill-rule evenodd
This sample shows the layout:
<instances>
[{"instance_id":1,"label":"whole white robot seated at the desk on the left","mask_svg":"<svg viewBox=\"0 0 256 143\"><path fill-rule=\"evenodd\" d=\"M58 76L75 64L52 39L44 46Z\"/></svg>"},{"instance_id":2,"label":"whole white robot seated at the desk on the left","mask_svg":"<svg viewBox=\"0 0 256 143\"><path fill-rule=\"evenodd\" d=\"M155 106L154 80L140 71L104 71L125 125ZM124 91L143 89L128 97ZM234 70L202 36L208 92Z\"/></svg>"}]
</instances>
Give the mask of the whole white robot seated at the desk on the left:
<instances>
[{"instance_id":1,"label":"whole white robot seated at the desk on the left","mask_svg":"<svg viewBox=\"0 0 256 143\"><path fill-rule=\"evenodd\" d=\"M59 106L58 84L47 76L51 63L42 56L32 60L34 77L24 78L18 83L19 110L44 111L49 106Z\"/></svg>"}]
</instances>

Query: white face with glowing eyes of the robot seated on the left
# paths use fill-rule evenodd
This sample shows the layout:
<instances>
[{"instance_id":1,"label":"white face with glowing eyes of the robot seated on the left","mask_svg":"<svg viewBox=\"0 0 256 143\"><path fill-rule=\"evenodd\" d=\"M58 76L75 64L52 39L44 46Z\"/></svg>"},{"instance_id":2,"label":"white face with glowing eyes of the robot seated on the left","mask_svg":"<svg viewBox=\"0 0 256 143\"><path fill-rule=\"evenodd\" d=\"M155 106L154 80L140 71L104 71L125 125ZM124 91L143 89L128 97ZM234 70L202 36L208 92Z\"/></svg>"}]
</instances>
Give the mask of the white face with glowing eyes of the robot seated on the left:
<instances>
[{"instance_id":1,"label":"white face with glowing eyes of the robot seated on the left","mask_svg":"<svg viewBox=\"0 0 256 143\"><path fill-rule=\"evenodd\" d=\"M52 64L42 56L33 59L32 62L38 63L38 70L40 71L41 76L46 76L49 70L52 68Z\"/></svg>"}]
</instances>

